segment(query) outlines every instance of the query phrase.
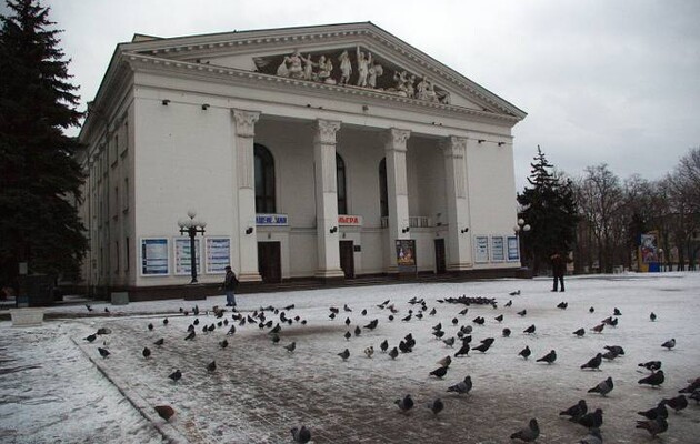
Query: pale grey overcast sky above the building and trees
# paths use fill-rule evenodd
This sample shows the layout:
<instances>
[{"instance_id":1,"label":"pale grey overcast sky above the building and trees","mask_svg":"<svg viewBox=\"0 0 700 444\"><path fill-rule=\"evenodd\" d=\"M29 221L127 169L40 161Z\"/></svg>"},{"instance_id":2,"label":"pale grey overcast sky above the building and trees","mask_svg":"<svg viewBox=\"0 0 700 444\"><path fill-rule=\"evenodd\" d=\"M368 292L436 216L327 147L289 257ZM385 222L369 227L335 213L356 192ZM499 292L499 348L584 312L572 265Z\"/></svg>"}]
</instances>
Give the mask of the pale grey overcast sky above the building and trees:
<instances>
[{"instance_id":1,"label":"pale grey overcast sky above the building and trees","mask_svg":"<svg viewBox=\"0 0 700 444\"><path fill-rule=\"evenodd\" d=\"M1 0L4 3L4 0ZM577 176L606 162L659 179L700 147L698 0L43 0L63 29L82 108L114 47L178 37L371 21L524 110L518 191L537 145ZM6 7L2 12L6 14Z\"/></svg>"}]
</instances>

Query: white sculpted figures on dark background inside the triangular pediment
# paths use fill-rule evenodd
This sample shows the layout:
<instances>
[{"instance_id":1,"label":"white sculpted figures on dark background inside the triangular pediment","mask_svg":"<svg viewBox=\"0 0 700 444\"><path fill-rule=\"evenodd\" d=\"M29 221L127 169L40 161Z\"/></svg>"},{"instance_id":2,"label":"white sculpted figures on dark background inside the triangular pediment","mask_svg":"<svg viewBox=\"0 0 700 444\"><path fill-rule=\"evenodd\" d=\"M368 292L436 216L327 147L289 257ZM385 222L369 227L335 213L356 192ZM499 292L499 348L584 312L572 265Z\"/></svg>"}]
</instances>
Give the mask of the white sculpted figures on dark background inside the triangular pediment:
<instances>
[{"instance_id":1,"label":"white sculpted figures on dark background inside the triangular pediment","mask_svg":"<svg viewBox=\"0 0 700 444\"><path fill-rule=\"evenodd\" d=\"M418 75L380 60L360 47L323 52L259 57L258 72L296 80L364 88L409 99L450 103L450 93L436 87L428 75Z\"/></svg>"}]
</instances>

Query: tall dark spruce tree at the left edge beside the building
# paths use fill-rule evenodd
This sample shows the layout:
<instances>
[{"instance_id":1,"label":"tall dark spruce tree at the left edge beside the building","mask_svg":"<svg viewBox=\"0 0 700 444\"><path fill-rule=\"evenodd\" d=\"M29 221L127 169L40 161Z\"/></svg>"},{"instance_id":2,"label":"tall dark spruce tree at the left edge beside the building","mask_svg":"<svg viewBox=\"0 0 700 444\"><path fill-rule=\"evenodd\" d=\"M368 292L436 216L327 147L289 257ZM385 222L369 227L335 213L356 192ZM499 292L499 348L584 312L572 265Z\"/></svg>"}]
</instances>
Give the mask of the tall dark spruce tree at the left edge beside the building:
<instances>
[{"instance_id":1,"label":"tall dark spruce tree at the left edge beside the building","mask_svg":"<svg viewBox=\"0 0 700 444\"><path fill-rule=\"evenodd\" d=\"M0 270L17 287L19 263L30 273L76 275L87 240L76 203L83 174L76 138L77 87L69 83L49 9L8 0L0 16Z\"/></svg>"}]
</instances>

